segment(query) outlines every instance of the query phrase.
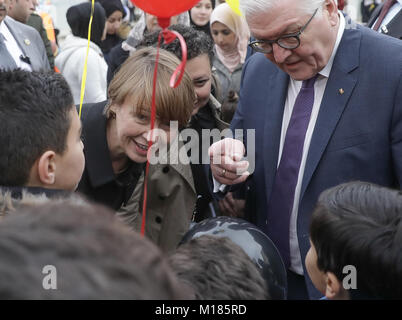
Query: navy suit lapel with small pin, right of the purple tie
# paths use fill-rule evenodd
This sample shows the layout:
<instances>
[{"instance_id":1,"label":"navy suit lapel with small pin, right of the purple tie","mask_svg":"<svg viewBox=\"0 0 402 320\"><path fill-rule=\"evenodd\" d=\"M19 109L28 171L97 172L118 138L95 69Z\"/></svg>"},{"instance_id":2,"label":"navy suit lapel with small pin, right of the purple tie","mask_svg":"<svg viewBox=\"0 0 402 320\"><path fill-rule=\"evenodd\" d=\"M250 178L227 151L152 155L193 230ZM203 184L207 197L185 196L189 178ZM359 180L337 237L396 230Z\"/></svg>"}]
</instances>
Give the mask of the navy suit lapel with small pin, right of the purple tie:
<instances>
[{"instance_id":1,"label":"navy suit lapel with small pin, right of the purple tie","mask_svg":"<svg viewBox=\"0 0 402 320\"><path fill-rule=\"evenodd\" d=\"M359 29L345 29L325 88L320 111L311 138L304 170L300 199L336 129L339 119L357 83L361 33Z\"/></svg>"}]
</instances>

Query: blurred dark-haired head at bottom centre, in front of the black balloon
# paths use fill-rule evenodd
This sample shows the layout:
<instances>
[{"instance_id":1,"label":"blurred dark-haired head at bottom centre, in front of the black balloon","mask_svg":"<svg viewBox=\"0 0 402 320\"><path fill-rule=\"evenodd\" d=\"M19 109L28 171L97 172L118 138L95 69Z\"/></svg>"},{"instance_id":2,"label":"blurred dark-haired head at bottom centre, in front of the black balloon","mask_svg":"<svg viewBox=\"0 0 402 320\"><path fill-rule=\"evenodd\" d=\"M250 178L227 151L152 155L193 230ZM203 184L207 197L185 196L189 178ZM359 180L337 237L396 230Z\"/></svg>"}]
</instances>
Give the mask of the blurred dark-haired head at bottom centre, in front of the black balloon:
<instances>
[{"instance_id":1,"label":"blurred dark-haired head at bottom centre, in front of the black balloon","mask_svg":"<svg viewBox=\"0 0 402 320\"><path fill-rule=\"evenodd\" d=\"M179 280L197 300L264 300L266 283L250 257L228 238L203 235L169 257Z\"/></svg>"}]
</instances>

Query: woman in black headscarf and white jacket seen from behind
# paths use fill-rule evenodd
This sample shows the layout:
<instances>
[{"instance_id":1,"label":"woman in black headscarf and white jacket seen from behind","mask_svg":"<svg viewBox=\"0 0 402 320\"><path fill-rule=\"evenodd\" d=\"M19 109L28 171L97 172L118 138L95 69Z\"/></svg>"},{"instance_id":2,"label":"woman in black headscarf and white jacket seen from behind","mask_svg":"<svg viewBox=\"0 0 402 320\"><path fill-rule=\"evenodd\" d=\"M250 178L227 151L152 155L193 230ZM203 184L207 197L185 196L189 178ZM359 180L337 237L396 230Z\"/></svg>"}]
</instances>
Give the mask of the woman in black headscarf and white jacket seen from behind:
<instances>
[{"instance_id":1,"label":"woman in black headscarf and white jacket seen from behind","mask_svg":"<svg viewBox=\"0 0 402 320\"><path fill-rule=\"evenodd\" d=\"M91 7L91 3L84 2L67 10L67 22L70 25L72 34L68 35L64 40L60 53L55 60L56 67L71 87L75 104L80 103L81 97L81 78L88 46L88 25L91 17ZM107 64L100 49L106 32L105 23L105 10L99 3L95 3L88 52L84 103L106 100Z\"/></svg>"}]
</instances>

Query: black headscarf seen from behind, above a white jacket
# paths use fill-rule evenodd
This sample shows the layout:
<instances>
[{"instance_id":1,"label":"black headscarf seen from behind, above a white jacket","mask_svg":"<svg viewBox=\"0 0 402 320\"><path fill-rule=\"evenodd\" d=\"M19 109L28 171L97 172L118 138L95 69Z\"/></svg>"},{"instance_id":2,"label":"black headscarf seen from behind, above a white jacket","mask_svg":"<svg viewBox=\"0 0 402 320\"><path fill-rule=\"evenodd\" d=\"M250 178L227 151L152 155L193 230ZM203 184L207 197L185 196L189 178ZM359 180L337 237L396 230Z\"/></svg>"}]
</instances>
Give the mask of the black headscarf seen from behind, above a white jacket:
<instances>
[{"instance_id":1,"label":"black headscarf seen from behind, above a white jacket","mask_svg":"<svg viewBox=\"0 0 402 320\"><path fill-rule=\"evenodd\" d=\"M76 37L88 38L89 19L91 17L92 4L83 2L68 8L66 17L70 25L73 35ZM105 9L99 4L95 3L94 16L91 27L91 41L98 46L101 45L103 30L105 29L106 13Z\"/></svg>"}]
</instances>

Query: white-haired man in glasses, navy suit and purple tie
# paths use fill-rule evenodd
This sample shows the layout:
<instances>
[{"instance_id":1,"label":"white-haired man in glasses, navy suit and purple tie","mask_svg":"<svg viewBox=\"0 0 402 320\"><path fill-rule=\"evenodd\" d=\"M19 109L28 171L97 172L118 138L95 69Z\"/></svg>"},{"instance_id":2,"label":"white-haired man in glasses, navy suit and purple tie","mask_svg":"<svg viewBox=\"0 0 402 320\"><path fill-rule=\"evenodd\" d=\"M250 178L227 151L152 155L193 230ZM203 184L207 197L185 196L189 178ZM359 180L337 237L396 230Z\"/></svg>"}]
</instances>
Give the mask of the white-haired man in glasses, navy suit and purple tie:
<instances>
[{"instance_id":1,"label":"white-haired man in glasses, navy suit and purple tie","mask_svg":"<svg viewBox=\"0 0 402 320\"><path fill-rule=\"evenodd\" d=\"M289 298L318 298L304 260L319 194L352 180L402 184L402 43L351 23L334 0L240 6L260 53L244 66L231 127L255 130L255 150L244 141L255 163L248 175L243 143L224 139L211 171L217 183L247 179L247 214L281 252Z\"/></svg>"}]
</instances>

